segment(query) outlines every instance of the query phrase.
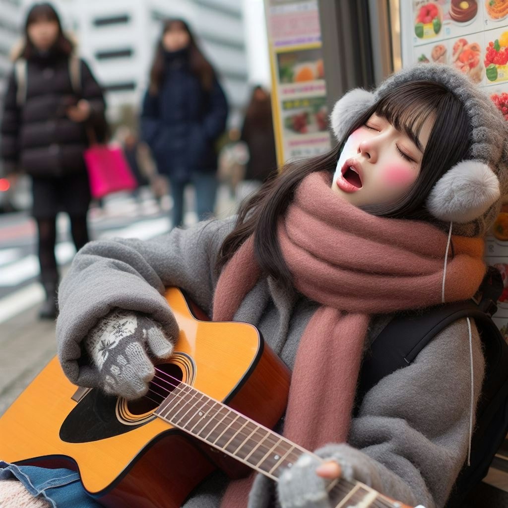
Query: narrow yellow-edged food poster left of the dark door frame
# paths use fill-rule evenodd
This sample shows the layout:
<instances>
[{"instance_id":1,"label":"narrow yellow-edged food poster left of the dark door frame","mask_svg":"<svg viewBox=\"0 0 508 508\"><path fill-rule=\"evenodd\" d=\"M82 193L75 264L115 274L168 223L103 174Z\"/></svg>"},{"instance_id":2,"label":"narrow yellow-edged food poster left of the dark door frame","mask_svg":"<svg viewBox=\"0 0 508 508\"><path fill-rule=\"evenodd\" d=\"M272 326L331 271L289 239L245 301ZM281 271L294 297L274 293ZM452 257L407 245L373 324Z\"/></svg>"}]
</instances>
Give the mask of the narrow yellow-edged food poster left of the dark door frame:
<instances>
[{"instance_id":1,"label":"narrow yellow-edged food poster left of the dark door frame","mask_svg":"<svg viewBox=\"0 0 508 508\"><path fill-rule=\"evenodd\" d=\"M265 0L279 166L330 150L317 0Z\"/></svg>"}]
</instances>

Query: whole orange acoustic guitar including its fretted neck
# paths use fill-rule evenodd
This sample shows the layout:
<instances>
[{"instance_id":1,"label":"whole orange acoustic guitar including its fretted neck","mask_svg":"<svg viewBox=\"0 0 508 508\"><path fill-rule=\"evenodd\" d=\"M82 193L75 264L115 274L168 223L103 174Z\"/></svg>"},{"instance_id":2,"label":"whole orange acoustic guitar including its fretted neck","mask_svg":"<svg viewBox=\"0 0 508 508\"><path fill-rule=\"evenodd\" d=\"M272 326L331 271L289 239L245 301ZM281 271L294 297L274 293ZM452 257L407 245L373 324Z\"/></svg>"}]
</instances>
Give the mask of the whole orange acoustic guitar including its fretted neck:
<instances>
[{"instance_id":1,"label":"whole orange acoustic guitar including its fretted neck","mask_svg":"<svg viewBox=\"0 0 508 508\"><path fill-rule=\"evenodd\" d=\"M177 508L217 467L277 480L306 450L273 428L291 373L245 323L205 321L177 288L166 299L180 335L136 401L78 388L57 358L0 418L0 459L79 470L108 508ZM359 482L333 485L340 508L409 508Z\"/></svg>"}]
</instances>

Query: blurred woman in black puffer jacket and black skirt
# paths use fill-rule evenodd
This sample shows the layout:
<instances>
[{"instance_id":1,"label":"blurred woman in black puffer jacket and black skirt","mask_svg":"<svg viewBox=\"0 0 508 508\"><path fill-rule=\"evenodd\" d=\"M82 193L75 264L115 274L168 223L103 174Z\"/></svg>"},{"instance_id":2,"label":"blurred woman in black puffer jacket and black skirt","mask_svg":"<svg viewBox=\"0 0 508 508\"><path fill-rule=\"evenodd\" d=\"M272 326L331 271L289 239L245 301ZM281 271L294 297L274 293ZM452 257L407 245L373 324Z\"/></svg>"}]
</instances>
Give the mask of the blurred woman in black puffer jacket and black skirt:
<instances>
[{"instance_id":1,"label":"blurred woman in black puffer jacket and black skirt","mask_svg":"<svg viewBox=\"0 0 508 508\"><path fill-rule=\"evenodd\" d=\"M73 50L54 8L47 3L33 6L1 128L5 173L23 171L33 179L33 216L47 296L40 316L49 319L57 312L56 215L69 214L76 249L88 242L90 190L83 151L89 145L87 131L97 136L106 125L101 87Z\"/></svg>"}]
</instances>

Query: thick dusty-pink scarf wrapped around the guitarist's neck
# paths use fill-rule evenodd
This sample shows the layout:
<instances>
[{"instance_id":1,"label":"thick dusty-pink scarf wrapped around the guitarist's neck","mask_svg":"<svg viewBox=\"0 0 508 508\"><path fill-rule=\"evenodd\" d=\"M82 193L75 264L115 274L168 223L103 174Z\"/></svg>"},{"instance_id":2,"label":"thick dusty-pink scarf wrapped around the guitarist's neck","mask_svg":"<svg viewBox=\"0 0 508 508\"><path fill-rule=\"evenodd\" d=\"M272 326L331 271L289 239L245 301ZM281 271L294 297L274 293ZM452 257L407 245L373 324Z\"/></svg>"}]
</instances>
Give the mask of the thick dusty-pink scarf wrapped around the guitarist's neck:
<instances>
[{"instance_id":1,"label":"thick dusty-pink scarf wrapped around the guitarist's neck","mask_svg":"<svg viewBox=\"0 0 508 508\"><path fill-rule=\"evenodd\" d=\"M330 186L327 173L307 176L278 224L294 287L321 303L300 340L284 423L307 450L346 440L370 315L441 303L448 240L421 221L370 215ZM482 239L453 237L453 252L446 302L470 298L485 273ZM232 321L260 276L250 237L219 277L213 320ZM246 506L252 477L232 482L221 508Z\"/></svg>"}]
</instances>

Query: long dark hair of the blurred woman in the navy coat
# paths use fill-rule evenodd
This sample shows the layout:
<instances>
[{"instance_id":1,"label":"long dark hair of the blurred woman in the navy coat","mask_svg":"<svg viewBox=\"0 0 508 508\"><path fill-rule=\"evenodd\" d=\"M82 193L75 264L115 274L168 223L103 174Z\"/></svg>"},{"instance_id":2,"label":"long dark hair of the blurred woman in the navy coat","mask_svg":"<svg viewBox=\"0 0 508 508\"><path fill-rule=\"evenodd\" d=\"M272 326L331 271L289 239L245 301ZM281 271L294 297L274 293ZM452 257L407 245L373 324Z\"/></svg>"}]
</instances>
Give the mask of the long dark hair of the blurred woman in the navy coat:
<instances>
[{"instance_id":1,"label":"long dark hair of the blurred woman in the navy coat","mask_svg":"<svg viewBox=\"0 0 508 508\"><path fill-rule=\"evenodd\" d=\"M153 58L153 64L150 70L150 93L155 95L161 88L165 68L163 38L164 34L170 31L175 24L180 24L189 35L189 45L187 51L190 72L199 79L203 90L210 91L215 78L215 71L211 63L205 58L199 49L198 44L196 43L196 38L194 37L192 30L190 30L187 22L180 18L171 18L164 23L161 38L159 39L157 49L155 50L155 57Z\"/></svg>"}]
</instances>

